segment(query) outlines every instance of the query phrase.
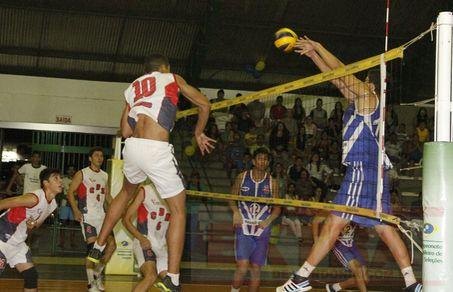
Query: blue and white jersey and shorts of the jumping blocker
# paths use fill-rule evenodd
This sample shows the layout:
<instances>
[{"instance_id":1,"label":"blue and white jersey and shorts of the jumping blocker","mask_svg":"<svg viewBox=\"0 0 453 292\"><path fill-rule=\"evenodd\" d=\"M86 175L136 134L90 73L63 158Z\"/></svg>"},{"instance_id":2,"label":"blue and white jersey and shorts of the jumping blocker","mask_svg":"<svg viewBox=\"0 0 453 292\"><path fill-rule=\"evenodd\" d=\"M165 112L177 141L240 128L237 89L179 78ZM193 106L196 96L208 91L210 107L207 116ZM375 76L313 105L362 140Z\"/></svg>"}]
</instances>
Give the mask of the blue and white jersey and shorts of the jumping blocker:
<instances>
[{"instance_id":1,"label":"blue and white jersey and shorts of the jumping blocker","mask_svg":"<svg viewBox=\"0 0 453 292\"><path fill-rule=\"evenodd\" d=\"M379 115L378 105L368 115L359 114L354 103L351 103L346 109L343 115L342 162L347 168L343 183L333 203L376 209ZM384 165L382 212L391 213L387 170L392 165L387 155L384 156ZM342 212L332 213L363 226L381 224L379 220L372 218Z\"/></svg>"}]
</instances>

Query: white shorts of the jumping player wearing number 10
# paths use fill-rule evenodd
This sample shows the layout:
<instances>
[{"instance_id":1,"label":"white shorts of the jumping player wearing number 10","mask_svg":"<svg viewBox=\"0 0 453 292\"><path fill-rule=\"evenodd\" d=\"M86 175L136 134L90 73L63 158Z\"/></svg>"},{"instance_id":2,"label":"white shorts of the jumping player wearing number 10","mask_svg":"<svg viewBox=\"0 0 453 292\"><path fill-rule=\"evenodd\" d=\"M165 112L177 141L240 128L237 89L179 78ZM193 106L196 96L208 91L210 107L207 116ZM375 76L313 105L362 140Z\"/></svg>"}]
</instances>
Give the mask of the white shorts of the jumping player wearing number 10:
<instances>
[{"instance_id":1,"label":"white shorts of the jumping player wearing number 10","mask_svg":"<svg viewBox=\"0 0 453 292\"><path fill-rule=\"evenodd\" d=\"M173 155L173 145L168 142L128 138L123 159L123 173L130 183L139 184L149 177L163 199L184 190L184 179Z\"/></svg>"}]
</instances>

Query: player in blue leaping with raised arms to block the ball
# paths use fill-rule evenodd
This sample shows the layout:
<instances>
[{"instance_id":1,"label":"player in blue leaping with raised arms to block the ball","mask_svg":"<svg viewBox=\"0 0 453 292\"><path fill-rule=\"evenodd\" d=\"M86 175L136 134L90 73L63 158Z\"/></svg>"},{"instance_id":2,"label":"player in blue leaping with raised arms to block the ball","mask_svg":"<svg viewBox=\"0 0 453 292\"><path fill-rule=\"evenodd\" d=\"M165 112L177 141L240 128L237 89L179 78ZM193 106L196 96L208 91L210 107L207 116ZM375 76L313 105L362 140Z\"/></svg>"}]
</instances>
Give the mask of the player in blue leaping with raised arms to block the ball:
<instances>
[{"instance_id":1,"label":"player in blue leaping with raised arms to block the ball","mask_svg":"<svg viewBox=\"0 0 453 292\"><path fill-rule=\"evenodd\" d=\"M301 38L297 41L296 52L309 57L322 72L344 66L320 43L308 38ZM369 209L376 209L377 204L380 203L382 212L390 213L390 194L386 171L384 171L383 195L379 202L376 195L379 155L377 125L380 117L379 96L375 92L375 89L379 92L379 88L375 87L380 84L379 81L379 72L376 71L370 71L365 82L360 81L354 75L332 80L332 83L350 103L343 119L343 164L346 166L346 175L334 203ZM391 167L387 157L384 157L384 166L385 169ZM393 226L371 218L332 212L327 217L319 240L313 245L307 260L285 284L277 287L276 291L311 290L308 277L332 249L343 228L351 221L375 228L401 269L406 284L405 291L422 290L422 285L415 279L407 248Z\"/></svg>"}]
</instances>

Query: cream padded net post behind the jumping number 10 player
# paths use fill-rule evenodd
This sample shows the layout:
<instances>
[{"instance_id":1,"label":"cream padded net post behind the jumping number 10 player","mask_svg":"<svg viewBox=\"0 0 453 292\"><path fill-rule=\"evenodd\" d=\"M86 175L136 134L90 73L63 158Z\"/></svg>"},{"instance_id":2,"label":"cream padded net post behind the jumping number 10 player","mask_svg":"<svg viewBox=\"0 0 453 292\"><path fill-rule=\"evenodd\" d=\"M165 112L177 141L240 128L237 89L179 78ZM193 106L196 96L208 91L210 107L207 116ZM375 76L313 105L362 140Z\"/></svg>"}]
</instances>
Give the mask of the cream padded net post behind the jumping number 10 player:
<instances>
[{"instance_id":1,"label":"cream padded net post behind the jumping number 10 player","mask_svg":"<svg viewBox=\"0 0 453 292\"><path fill-rule=\"evenodd\" d=\"M122 160L108 160L107 171L109 174L110 194L113 198L120 192L123 186L122 169ZM108 275L135 275L132 237L121 221L116 224L113 232L115 234L116 251L107 264L105 273Z\"/></svg>"}]
</instances>

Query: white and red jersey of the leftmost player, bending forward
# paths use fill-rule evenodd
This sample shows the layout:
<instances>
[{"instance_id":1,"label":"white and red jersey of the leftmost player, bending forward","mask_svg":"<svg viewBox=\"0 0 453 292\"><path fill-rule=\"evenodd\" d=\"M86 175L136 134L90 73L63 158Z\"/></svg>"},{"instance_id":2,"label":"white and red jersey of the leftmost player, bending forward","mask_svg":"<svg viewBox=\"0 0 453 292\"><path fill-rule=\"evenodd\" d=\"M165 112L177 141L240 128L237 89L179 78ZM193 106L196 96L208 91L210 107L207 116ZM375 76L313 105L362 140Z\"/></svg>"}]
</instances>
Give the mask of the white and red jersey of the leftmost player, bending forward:
<instances>
[{"instance_id":1,"label":"white and red jersey of the leftmost player, bending forward","mask_svg":"<svg viewBox=\"0 0 453 292\"><path fill-rule=\"evenodd\" d=\"M27 239L27 220L41 224L57 208L57 202L46 199L43 189L33 192L38 203L31 207L11 208L0 218L0 240L11 245L18 245Z\"/></svg>"}]
</instances>

